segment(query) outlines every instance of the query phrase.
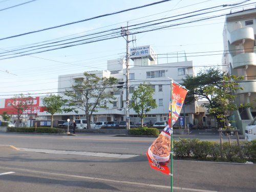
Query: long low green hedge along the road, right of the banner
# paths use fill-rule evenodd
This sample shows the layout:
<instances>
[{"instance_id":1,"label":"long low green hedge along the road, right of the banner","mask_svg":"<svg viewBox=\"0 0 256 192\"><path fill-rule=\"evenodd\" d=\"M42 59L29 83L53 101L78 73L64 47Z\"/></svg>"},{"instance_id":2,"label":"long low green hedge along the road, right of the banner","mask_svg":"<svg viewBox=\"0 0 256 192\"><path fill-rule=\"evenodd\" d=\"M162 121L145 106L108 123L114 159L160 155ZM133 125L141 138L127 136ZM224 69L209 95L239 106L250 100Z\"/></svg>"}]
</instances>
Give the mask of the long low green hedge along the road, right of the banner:
<instances>
[{"instance_id":1,"label":"long low green hedge along the road, right of the banner","mask_svg":"<svg viewBox=\"0 0 256 192\"><path fill-rule=\"evenodd\" d=\"M240 149L236 142L230 144L223 143L223 159L221 159L220 144L213 141L201 141L198 139L179 139L174 140L174 154L178 159L193 158L199 160L214 160L228 162L256 163L256 140L251 142L241 142Z\"/></svg>"}]
</instances>

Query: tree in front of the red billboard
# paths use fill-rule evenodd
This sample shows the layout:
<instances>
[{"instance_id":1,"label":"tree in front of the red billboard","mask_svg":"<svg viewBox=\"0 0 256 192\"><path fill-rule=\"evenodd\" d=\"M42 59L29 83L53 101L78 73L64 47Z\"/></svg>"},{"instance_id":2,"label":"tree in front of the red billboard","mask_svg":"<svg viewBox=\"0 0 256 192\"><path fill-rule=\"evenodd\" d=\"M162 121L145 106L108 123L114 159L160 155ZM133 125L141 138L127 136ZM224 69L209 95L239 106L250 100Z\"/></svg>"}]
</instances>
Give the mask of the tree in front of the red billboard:
<instances>
[{"instance_id":1,"label":"tree in front of the red billboard","mask_svg":"<svg viewBox=\"0 0 256 192\"><path fill-rule=\"evenodd\" d=\"M17 127L19 126L20 116L24 114L26 110L33 104L33 98L31 96L25 96L23 94L15 95L11 103L12 107L17 112Z\"/></svg>"}]
</instances>

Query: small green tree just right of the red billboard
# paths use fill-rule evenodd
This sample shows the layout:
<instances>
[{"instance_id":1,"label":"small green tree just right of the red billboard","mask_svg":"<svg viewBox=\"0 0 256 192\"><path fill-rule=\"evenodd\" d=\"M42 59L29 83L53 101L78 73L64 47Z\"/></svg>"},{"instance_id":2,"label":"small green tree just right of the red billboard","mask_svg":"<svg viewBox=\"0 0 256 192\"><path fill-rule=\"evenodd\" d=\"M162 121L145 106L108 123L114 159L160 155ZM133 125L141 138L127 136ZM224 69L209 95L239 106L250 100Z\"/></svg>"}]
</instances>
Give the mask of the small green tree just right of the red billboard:
<instances>
[{"instance_id":1,"label":"small green tree just right of the red billboard","mask_svg":"<svg viewBox=\"0 0 256 192\"><path fill-rule=\"evenodd\" d=\"M51 114L51 127L53 127L53 115L55 113L73 111L71 108L62 108L62 106L67 102L67 99L62 99L61 96L52 94L42 99L42 103L47 108L47 113Z\"/></svg>"}]
</instances>

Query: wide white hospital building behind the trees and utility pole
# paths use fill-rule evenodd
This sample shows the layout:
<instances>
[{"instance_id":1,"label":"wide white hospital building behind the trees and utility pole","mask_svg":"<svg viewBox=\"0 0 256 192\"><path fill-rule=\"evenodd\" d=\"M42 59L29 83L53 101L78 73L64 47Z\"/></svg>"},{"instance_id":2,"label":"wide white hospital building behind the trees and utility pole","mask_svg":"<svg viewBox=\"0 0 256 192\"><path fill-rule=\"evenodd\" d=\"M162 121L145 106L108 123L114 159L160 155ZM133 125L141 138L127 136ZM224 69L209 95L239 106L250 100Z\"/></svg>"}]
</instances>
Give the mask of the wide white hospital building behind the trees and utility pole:
<instances>
[{"instance_id":1,"label":"wide white hospital building behind the trees and utility pole","mask_svg":"<svg viewBox=\"0 0 256 192\"><path fill-rule=\"evenodd\" d=\"M139 50L139 51L138 51ZM151 83L155 89L154 98L158 107L151 110L144 119L144 122L155 122L157 120L167 121L168 105L170 98L170 79L173 78L177 82L182 82L185 75L194 75L194 68L192 61L164 63L157 65L156 54L151 46L138 47L131 49L131 59L134 62L134 67L130 68L130 100L132 98L132 91L143 82ZM99 77L115 77L119 81L126 79L126 66L122 59L109 60L107 62L107 70L103 71L89 71L87 73L96 74ZM83 73L61 75L58 78L58 92L59 95L64 96L63 91L72 87L76 79L82 78ZM108 109L98 109L93 114L93 121L121 121L125 120L126 115L126 89L121 88L113 91L115 100L113 103L106 103ZM65 97L65 96L64 96ZM198 111L196 103L185 105L185 119L187 123L197 124L202 122L204 112ZM183 116L184 110L181 111ZM46 112L39 115L47 116ZM85 119L84 111L78 110L75 114L56 114L55 119ZM135 123L140 122L137 114L130 109L130 120Z\"/></svg>"}]
</instances>

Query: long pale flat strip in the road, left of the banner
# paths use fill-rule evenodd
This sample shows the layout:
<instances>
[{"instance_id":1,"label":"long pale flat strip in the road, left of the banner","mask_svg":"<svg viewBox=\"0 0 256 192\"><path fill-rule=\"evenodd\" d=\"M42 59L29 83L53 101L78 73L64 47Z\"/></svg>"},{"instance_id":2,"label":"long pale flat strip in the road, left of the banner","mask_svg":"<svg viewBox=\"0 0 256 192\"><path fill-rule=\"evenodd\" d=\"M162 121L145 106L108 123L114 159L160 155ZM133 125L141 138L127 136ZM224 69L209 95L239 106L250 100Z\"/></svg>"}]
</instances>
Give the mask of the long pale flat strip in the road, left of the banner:
<instances>
[{"instance_id":1,"label":"long pale flat strip in the road, left of the banner","mask_svg":"<svg viewBox=\"0 0 256 192\"><path fill-rule=\"evenodd\" d=\"M26 152L46 153L46 154L82 155L82 156L93 156L93 157L110 157L110 158L119 158L119 159L127 159L127 158L139 156L139 155L130 155L130 154L44 150L39 148L21 148L21 147L19 148L19 150L26 151Z\"/></svg>"}]
</instances>

